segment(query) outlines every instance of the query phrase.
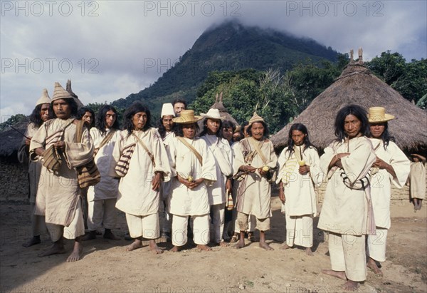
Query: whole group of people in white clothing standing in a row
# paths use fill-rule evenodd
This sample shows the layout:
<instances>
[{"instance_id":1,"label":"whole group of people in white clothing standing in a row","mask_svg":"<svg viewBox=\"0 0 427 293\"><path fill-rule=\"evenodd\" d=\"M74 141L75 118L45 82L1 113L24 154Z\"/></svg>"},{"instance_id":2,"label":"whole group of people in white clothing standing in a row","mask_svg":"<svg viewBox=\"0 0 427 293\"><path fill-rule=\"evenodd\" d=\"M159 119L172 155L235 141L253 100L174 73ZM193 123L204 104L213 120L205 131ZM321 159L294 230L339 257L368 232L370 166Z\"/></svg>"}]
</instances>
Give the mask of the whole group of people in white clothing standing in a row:
<instances>
[{"instance_id":1,"label":"whole group of people in white clothing standing in a row","mask_svg":"<svg viewBox=\"0 0 427 293\"><path fill-rule=\"evenodd\" d=\"M265 238L273 183L278 185L286 222L286 241L280 248L304 247L307 255L313 255L315 187L327 182L317 225L329 235L331 269L323 272L344 279L347 289L366 279L367 267L382 274L391 183L403 187L411 168L389 133L388 121L394 116L385 108L340 109L334 122L337 139L321 157L301 123L291 126L288 147L277 156L268 125L257 113L242 129L246 135L241 140L233 140L233 130L229 123L223 126L219 110L195 115L186 110L184 101L163 105L159 128L151 126L150 110L141 103L127 108L122 128L117 111L109 105L100 108L90 130L79 129L76 113L75 98L59 83L52 99L43 90L19 150L19 159L28 162L32 209L33 237L24 246L40 243L46 229L53 241L41 256L64 253L65 237L75 240L67 261L79 260L82 241L95 239L102 228L103 237L119 240L112 232L117 210L125 213L133 240L128 251L148 240L149 250L162 253L155 241L162 236L172 242L172 252L179 252L189 235L199 250L211 250L209 242L229 245L230 230L234 232L230 242L241 249L246 233L254 228L260 231L259 246L273 250ZM413 157L425 163L423 156ZM52 158L55 164L49 164ZM92 160L100 181L88 188L83 202L76 169ZM422 165L420 170L413 166L424 175ZM409 181L416 195L425 193L425 181L423 186L420 180ZM418 197L416 209L423 196ZM226 221L230 198L235 212ZM87 233L83 204L88 206Z\"/></svg>"}]
</instances>

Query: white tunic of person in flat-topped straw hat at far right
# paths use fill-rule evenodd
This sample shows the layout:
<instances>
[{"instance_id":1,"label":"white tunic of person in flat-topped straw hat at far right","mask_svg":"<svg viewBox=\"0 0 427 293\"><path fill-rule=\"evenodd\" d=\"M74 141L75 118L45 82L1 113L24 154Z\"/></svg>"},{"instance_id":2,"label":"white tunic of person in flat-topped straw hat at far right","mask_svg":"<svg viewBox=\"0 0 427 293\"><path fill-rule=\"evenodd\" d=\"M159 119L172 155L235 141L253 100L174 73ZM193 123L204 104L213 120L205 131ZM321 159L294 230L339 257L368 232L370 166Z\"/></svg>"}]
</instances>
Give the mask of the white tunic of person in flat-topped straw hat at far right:
<instances>
[{"instance_id":1,"label":"white tunic of person in flat-topped straw hat at far right","mask_svg":"<svg viewBox=\"0 0 427 293\"><path fill-rule=\"evenodd\" d=\"M389 142L386 150L382 140L371 138L375 154L387 164L390 164L396 173L396 178L385 169L380 169L378 173L372 175L371 179L371 198L374 208L374 217L376 227L390 229L390 200L391 183L396 187L404 187L408 179L410 170L410 161L406 158L404 152L392 141Z\"/></svg>"}]
</instances>

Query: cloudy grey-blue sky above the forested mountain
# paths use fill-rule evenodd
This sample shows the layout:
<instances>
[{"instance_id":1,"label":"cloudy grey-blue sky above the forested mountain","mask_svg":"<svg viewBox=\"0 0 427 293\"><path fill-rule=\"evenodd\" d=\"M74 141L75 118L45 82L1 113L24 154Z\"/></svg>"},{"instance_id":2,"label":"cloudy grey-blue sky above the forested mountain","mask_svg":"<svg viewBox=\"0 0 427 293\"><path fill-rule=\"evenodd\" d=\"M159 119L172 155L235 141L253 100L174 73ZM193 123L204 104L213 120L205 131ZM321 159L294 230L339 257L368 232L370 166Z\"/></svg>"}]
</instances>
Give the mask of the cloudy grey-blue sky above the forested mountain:
<instances>
[{"instance_id":1,"label":"cloudy grey-blue sky above the forested mountain","mask_svg":"<svg viewBox=\"0 0 427 293\"><path fill-rule=\"evenodd\" d=\"M1 121L28 115L68 78L83 103L159 78L209 27L230 19L288 31L364 59L427 58L427 1L0 1Z\"/></svg>"}]
</instances>

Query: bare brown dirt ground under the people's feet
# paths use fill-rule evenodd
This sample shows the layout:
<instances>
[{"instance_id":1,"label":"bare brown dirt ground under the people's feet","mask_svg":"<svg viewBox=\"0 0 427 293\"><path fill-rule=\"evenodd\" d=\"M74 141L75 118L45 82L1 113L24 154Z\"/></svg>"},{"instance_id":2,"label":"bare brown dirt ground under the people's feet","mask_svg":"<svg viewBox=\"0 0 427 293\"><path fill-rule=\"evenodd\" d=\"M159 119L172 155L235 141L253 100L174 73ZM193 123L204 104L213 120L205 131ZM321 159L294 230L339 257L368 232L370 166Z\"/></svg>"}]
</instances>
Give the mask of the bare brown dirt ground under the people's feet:
<instances>
[{"instance_id":1,"label":"bare brown dirt ground under the people's feet","mask_svg":"<svg viewBox=\"0 0 427 293\"><path fill-rule=\"evenodd\" d=\"M285 240L285 217L278 197L272 198L272 229L267 252L247 242L241 250L213 247L199 252L193 246L179 253L153 255L148 247L126 252L125 240L84 242L83 259L67 263L73 242L67 240L65 255L37 257L51 244L47 235L41 245L24 248L30 235L29 205L0 205L1 292L342 292L341 279L321 273L330 268L327 236L315 230L314 256L300 249L279 250ZM426 207L414 213L410 205L395 206L387 243L384 277L368 272L359 292L427 292ZM315 224L318 218L315 218ZM119 215L113 230L124 237L125 217ZM172 245L159 243L169 250Z\"/></svg>"}]
</instances>

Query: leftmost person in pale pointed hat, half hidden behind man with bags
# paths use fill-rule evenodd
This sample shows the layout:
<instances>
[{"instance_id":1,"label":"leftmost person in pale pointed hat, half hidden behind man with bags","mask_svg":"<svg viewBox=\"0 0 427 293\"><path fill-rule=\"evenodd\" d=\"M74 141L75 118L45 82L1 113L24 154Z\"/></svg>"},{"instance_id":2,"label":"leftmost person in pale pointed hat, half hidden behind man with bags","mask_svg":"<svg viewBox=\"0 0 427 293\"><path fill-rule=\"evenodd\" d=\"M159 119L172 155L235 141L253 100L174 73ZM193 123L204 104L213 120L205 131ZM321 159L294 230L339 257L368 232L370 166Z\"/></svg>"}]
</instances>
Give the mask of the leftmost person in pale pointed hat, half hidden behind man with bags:
<instances>
[{"instance_id":1,"label":"leftmost person in pale pointed hat, half hidden behind man with bags","mask_svg":"<svg viewBox=\"0 0 427 293\"><path fill-rule=\"evenodd\" d=\"M28 242L23 243L23 247L30 247L41 242L40 235L46 232L45 218L43 216L34 215L34 207L36 206L36 195L38 180L41 172L41 157L29 160L28 152L31 143L31 138L37 132L38 128L52 118L51 98L49 98L48 90L43 88L41 97L36 102L36 108L30 115L30 123L27 126L26 137L23 138L21 146L18 150L18 160L20 163L28 165L28 197L31 206L31 233L32 236Z\"/></svg>"}]
</instances>

